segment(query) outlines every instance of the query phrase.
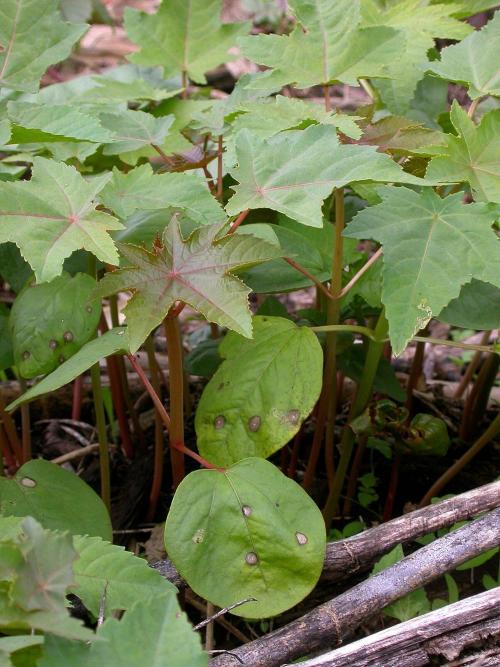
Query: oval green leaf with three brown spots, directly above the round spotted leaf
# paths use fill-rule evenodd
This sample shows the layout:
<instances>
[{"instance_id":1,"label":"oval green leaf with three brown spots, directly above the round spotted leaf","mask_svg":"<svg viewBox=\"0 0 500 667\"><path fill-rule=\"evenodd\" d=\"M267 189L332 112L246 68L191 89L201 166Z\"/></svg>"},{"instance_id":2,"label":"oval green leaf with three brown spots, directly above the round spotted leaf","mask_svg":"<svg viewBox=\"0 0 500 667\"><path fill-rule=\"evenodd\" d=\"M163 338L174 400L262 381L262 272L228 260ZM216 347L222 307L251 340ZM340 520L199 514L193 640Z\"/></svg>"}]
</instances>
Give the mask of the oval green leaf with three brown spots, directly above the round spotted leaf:
<instances>
[{"instance_id":1,"label":"oval green leaf with three brown spots, directly above the round spotted leaf","mask_svg":"<svg viewBox=\"0 0 500 667\"><path fill-rule=\"evenodd\" d=\"M297 433L321 391L323 354L315 334L282 317L253 318L254 337L229 333L225 361L196 411L201 455L218 466L267 458Z\"/></svg>"}]
</instances>

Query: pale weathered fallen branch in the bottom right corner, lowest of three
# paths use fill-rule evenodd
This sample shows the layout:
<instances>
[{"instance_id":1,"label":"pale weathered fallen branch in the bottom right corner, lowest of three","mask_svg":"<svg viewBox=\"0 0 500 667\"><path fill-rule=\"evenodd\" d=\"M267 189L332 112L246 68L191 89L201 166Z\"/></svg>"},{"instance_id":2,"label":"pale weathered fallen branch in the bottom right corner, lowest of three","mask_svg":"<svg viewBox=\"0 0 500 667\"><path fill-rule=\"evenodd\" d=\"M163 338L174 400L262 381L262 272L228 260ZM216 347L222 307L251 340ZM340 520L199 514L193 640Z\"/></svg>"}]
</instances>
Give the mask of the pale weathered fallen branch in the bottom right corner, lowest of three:
<instances>
[{"instance_id":1,"label":"pale weathered fallen branch in the bottom right corner, lowest of three","mask_svg":"<svg viewBox=\"0 0 500 667\"><path fill-rule=\"evenodd\" d=\"M301 667L421 667L431 656L456 659L475 642L484 647L488 637L499 635L500 589L495 588L306 660Z\"/></svg>"}]
</instances>

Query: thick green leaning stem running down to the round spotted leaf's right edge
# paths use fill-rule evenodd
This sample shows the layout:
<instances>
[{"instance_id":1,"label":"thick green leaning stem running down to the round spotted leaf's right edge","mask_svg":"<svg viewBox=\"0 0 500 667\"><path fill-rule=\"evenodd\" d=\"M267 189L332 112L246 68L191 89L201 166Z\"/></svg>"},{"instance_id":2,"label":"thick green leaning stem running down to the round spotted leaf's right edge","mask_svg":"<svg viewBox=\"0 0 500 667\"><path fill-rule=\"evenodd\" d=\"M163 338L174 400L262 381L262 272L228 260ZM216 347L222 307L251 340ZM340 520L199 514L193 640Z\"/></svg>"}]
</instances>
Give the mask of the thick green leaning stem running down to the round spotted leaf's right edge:
<instances>
[{"instance_id":1,"label":"thick green leaning stem running down to the round spotted leaf's right edge","mask_svg":"<svg viewBox=\"0 0 500 667\"><path fill-rule=\"evenodd\" d=\"M332 519L337 512L340 494L342 487L344 486L347 468L349 466L354 448L354 432L349 427L349 423L356 417L359 417L359 415L368 405L372 395L373 383L375 381L375 375L377 373L380 357L382 356L384 349L383 340L387 336L388 327L389 325L386 320L385 313L382 310L374 331L375 340L371 339L368 343L368 351L366 354L361 382L358 385L356 396L351 405L348 424L344 427L342 433L340 460L335 474L333 486L330 489L330 493L323 510L323 516L327 527L330 526Z\"/></svg>"}]
</instances>

